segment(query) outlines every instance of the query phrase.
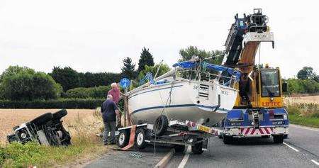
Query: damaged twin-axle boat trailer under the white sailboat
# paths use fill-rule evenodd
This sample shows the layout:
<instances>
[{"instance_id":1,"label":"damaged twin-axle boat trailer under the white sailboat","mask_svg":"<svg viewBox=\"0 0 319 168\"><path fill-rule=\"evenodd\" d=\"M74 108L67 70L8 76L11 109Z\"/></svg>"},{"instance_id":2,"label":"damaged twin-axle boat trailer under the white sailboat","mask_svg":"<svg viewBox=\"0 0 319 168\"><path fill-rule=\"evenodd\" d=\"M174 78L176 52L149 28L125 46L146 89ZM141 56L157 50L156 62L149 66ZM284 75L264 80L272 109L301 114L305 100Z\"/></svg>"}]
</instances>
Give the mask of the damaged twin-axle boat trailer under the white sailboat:
<instances>
[{"instance_id":1,"label":"damaged twin-axle boat trailer under the white sailboat","mask_svg":"<svg viewBox=\"0 0 319 168\"><path fill-rule=\"evenodd\" d=\"M208 147L208 138L215 135L215 130L192 121L168 121L162 115L155 124L142 123L116 131L117 145L128 150L133 145L143 150L147 144L171 145L176 152L184 152L185 146L191 146L194 154L202 154Z\"/></svg>"}]
</instances>

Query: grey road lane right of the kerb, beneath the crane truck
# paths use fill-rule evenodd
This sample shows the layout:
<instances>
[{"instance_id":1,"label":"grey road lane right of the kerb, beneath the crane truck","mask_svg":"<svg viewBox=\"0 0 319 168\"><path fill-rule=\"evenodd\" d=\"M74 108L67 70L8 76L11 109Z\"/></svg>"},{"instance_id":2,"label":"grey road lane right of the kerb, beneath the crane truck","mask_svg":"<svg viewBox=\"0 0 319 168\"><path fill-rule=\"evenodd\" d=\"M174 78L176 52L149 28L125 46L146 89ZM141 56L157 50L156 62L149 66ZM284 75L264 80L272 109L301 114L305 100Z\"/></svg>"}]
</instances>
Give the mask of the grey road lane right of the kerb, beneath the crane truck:
<instances>
[{"instance_id":1,"label":"grey road lane right of the kerb, beneath the crane truck","mask_svg":"<svg viewBox=\"0 0 319 168\"><path fill-rule=\"evenodd\" d=\"M176 155L167 167L319 167L319 129L289 126L289 138L278 145L268 139L238 140L224 145L210 139L203 155Z\"/></svg>"}]
</instances>

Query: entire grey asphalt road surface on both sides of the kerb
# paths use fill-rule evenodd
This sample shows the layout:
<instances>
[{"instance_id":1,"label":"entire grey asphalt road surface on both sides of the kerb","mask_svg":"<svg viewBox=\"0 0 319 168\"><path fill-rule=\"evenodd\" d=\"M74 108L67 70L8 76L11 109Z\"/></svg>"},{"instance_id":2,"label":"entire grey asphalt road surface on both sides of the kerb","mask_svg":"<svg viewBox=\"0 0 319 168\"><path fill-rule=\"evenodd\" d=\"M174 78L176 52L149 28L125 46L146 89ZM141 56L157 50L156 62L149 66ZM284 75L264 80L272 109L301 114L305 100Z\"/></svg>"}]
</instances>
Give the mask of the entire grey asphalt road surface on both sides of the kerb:
<instances>
[{"instance_id":1,"label":"entire grey asphalt road surface on both sides of the kerb","mask_svg":"<svg viewBox=\"0 0 319 168\"><path fill-rule=\"evenodd\" d=\"M169 150L158 149L156 155L150 147L139 152L141 159L117 151L87 167L154 167ZM289 138L280 145L274 144L272 138L240 139L224 145L223 140L213 137L202 155L193 155L189 150L175 154L167 167L319 167L319 129L290 125Z\"/></svg>"}]
</instances>

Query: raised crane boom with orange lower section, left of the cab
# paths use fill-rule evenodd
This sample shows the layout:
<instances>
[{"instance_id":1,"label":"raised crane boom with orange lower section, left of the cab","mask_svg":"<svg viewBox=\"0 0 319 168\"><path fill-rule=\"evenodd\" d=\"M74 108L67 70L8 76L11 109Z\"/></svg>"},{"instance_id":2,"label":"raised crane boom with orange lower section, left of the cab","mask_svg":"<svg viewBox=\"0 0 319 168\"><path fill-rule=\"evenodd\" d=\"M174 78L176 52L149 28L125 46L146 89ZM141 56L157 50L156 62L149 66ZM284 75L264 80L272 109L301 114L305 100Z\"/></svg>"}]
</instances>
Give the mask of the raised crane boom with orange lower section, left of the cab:
<instances>
[{"instance_id":1,"label":"raised crane boom with orange lower section, left of the cab","mask_svg":"<svg viewBox=\"0 0 319 168\"><path fill-rule=\"evenodd\" d=\"M254 9L253 14L244 14L243 18L236 14L235 23L230 27L222 65L242 72L238 86L239 97L235 106L260 107L261 96L257 84L264 81L260 81L260 72L254 70L254 67L259 45L271 42L274 47L274 33L269 31L267 23L268 17L262 14L262 9Z\"/></svg>"}]
</instances>

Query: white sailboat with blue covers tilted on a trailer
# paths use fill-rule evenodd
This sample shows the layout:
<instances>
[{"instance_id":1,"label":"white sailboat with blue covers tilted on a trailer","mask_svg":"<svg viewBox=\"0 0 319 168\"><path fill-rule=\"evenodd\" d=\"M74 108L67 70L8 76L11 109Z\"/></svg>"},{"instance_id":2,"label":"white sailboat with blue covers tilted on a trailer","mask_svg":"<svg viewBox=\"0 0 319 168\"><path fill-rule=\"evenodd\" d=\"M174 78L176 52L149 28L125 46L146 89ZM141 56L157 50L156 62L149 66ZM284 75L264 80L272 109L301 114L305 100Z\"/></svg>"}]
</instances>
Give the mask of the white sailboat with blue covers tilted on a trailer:
<instances>
[{"instance_id":1,"label":"white sailboat with blue covers tilted on a trailer","mask_svg":"<svg viewBox=\"0 0 319 168\"><path fill-rule=\"evenodd\" d=\"M179 62L173 67L154 81L128 92L133 124L154 123L158 116L165 115L169 121L213 125L233 108L237 97L234 87L240 72L199 61ZM213 70L227 71L229 75L223 77Z\"/></svg>"}]
</instances>

